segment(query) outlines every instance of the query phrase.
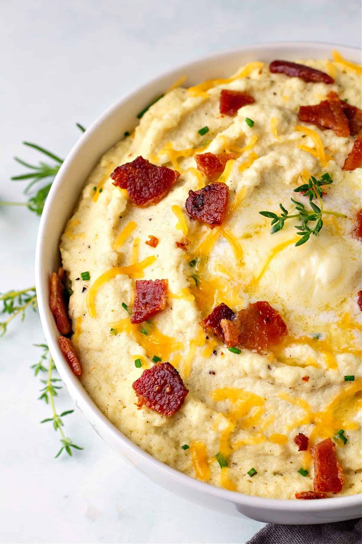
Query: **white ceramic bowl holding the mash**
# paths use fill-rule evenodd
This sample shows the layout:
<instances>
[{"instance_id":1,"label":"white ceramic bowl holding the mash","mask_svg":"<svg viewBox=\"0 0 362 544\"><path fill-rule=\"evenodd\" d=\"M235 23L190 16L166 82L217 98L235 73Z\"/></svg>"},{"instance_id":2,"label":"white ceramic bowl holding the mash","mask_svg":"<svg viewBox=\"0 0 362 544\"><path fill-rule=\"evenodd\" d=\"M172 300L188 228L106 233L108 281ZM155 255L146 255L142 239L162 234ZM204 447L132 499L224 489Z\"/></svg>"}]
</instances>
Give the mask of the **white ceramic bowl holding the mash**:
<instances>
[{"instance_id":1,"label":"white ceramic bowl holding the mash","mask_svg":"<svg viewBox=\"0 0 362 544\"><path fill-rule=\"evenodd\" d=\"M209 508L234 515L245 515L263 522L304 524L356 518L361 515L360 495L316 501L252 497L189 478L145 453L101 413L63 358L57 341L59 333L49 310L49 276L59 267L60 236L72 215L88 174L103 153L122 138L125 131L137 125L136 114L145 104L183 75L187 75L185 85L195 85L205 79L228 77L240 65L252 60L269 62L274 59L328 58L334 47L336 46L331 44L310 42L277 42L243 47L182 65L120 98L87 129L68 154L47 198L37 237L36 293L45 336L56 368L69 394L90 421L93 429L116 452L123 454L166 489ZM356 63L360 62L359 50L343 46L338 46L338 50L343 57Z\"/></svg>"}]
</instances>

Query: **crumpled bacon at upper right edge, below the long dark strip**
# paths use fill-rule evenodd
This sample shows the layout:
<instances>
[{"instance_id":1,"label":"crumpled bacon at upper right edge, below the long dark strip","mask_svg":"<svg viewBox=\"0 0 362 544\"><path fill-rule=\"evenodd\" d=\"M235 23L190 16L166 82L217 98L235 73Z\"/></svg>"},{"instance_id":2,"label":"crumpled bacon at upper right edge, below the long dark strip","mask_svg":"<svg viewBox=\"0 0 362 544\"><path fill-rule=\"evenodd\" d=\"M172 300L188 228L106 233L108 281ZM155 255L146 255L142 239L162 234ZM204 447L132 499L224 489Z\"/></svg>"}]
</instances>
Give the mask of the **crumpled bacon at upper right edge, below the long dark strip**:
<instances>
[{"instance_id":1,"label":"crumpled bacon at upper right edge, below the long dark strip","mask_svg":"<svg viewBox=\"0 0 362 544\"><path fill-rule=\"evenodd\" d=\"M298 118L306 123L313 123L320 129L330 128L337 136L347 137L362 128L362 110L340 100L336 92L331 91L327 100L314 106L301 106Z\"/></svg>"}]
</instances>

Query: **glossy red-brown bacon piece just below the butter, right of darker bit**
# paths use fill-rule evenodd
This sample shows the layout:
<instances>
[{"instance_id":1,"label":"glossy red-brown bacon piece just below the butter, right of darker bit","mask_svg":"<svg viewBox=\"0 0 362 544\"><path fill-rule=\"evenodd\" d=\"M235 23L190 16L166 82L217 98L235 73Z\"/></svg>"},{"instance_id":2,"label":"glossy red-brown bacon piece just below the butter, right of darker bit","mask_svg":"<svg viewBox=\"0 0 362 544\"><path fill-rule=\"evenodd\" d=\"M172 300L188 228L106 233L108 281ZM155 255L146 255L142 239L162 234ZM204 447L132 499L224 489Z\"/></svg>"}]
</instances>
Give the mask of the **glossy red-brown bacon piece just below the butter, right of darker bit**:
<instances>
[{"instance_id":1,"label":"glossy red-brown bacon piece just below the butter, right of darker bit","mask_svg":"<svg viewBox=\"0 0 362 544\"><path fill-rule=\"evenodd\" d=\"M228 348L241 345L244 348L265 351L281 342L288 334L280 313L265 300L249 304L240 310L233 321L221 319L225 343Z\"/></svg>"}]
</instances>

